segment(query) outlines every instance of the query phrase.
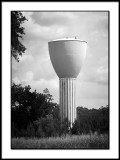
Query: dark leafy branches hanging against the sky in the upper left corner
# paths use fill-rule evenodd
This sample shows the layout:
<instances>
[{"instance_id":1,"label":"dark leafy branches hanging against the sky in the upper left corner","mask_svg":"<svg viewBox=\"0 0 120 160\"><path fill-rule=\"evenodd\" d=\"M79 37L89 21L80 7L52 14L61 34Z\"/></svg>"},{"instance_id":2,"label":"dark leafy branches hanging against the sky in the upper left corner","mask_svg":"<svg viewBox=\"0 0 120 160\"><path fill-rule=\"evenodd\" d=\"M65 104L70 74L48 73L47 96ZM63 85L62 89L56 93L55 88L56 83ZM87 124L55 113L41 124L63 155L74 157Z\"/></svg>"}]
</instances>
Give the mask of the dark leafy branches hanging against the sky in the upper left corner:
<instances>
[{"instance_id":1,"label":"dark leafy branches hanging against the sky in the upper left corner","mask_svg":"<svg viewBox=\"0 0 120 160\"><path fill-rule=\"evenodd\" d=\"M21 26L27 19L19 11L11 12L11 56L19 62L19 56L25 52L25 46L20 42L23 39L24 27Z\"/></svg>"}]
</instances>

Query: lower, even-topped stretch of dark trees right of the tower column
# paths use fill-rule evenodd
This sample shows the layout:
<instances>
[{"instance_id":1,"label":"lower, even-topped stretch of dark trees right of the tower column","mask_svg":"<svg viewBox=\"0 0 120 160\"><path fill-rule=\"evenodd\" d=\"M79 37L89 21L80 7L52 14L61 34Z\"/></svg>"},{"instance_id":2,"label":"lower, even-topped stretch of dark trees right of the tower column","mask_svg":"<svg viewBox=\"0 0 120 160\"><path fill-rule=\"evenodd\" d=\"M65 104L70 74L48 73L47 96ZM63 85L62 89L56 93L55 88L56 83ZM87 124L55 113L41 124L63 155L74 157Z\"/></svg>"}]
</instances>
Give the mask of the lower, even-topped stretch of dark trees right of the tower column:
<instances>
[{"instance_id":1,"label":"lower, even-topped stretch of dark trees right of the tower column","mask_svg":"<svg viewBox=\"0 0 120 160\"><path fill-rule=\"evenodd\" d=\"M77 107L77 120L73 125L74 134L109 133L109 107L88 109Z\"/></svg>"}]
</instances>

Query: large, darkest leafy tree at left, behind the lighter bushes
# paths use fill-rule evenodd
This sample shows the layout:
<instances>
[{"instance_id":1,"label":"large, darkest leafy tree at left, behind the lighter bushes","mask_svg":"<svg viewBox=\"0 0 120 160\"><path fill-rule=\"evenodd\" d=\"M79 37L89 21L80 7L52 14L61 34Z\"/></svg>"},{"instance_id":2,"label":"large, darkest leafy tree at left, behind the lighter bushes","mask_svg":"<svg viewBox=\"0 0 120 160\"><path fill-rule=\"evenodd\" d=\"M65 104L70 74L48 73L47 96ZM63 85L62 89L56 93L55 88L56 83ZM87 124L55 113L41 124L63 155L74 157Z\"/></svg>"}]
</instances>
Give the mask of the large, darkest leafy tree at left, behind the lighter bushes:
<instances>
[{"instance_id":1,"label":"large, darkest leafy tree at left, behind the lighter bushes","mask_svg":"<svg viewBox=\"0 0 120 160\"><path fill-rule=\"evenodd\" d=\"M18 129L26 129L30 122L52 114L56 106L45 94L30 90L29 85L23 87L13 83L11 86L11 122Z\"/></svg>"}]
</instances>

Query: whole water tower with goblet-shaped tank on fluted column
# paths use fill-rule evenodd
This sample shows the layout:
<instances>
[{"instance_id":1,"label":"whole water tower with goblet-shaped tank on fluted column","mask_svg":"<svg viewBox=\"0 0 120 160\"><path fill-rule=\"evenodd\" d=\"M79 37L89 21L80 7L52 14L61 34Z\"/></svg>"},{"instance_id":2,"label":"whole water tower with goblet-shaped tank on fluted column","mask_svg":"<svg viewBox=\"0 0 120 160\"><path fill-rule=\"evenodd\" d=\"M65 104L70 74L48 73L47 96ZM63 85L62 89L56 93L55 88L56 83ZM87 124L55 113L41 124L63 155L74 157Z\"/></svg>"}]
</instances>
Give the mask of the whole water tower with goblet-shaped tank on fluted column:
<instances>
[{"instance_id":1,"label":"whole water tower with goblet-shaped tank on fluted column","mask_svg":"<svg viewBox=\"0 0 120 160\"><path fill-rule=\"evenodd\" d=\"M87 42L66 38L50 41L48 46L53 67L59 77L61 120L67 118L72 126L76 119L75 82L86 57Z\"/></svg>"}]
</instances>

